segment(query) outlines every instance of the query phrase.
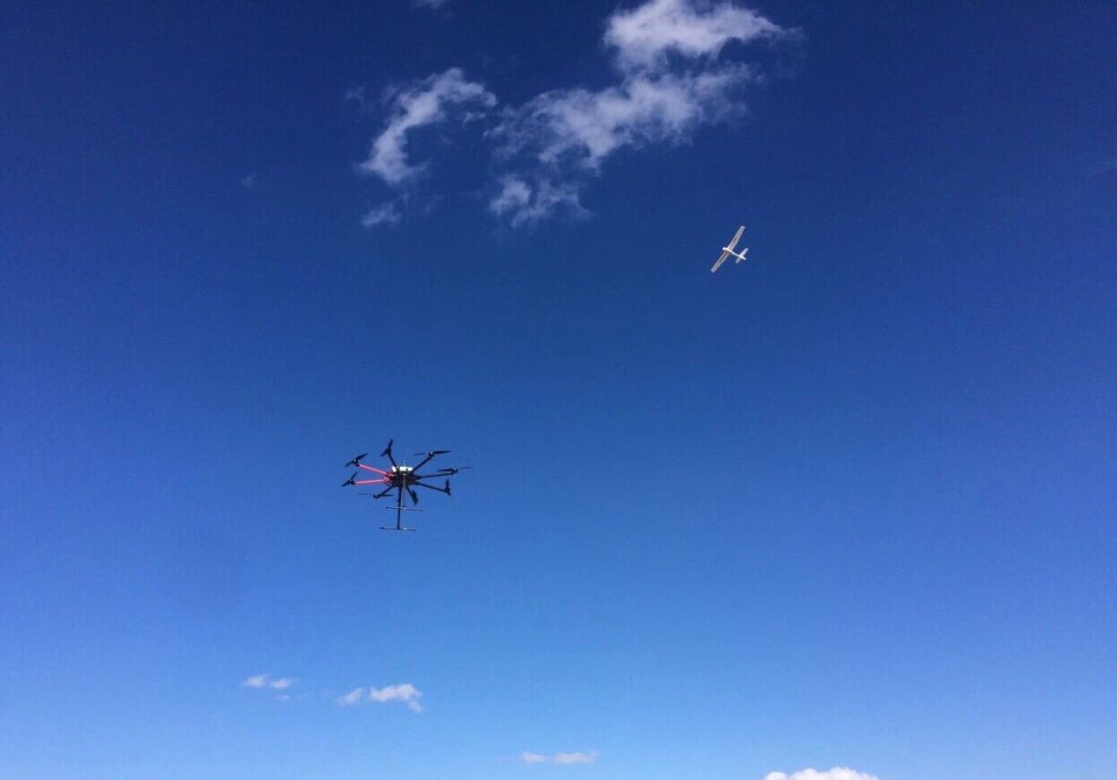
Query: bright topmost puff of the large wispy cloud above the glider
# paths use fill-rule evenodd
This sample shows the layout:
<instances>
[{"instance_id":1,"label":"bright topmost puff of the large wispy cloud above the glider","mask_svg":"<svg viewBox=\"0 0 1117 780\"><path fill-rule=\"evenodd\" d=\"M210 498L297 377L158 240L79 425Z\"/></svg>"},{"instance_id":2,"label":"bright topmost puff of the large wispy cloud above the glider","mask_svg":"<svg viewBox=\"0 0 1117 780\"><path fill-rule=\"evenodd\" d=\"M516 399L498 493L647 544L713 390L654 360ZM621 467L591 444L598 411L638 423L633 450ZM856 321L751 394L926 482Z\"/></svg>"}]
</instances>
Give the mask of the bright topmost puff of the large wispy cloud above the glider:
<instances>
[{"instance_id":1,"label":"bright topmost puff of the large wispy cloud above the glider","mask_svg":"<svg viewBox=\"0 0 1117 780\"><path fill-rule=\"evenodd\" d=\"M748 42L783 32L756 11L732 2L649 0L610 17L605 44L617 49L617 65L622 69L662 68L670 52L716 57L732 40Z\"/></svg>"}]
</instances>

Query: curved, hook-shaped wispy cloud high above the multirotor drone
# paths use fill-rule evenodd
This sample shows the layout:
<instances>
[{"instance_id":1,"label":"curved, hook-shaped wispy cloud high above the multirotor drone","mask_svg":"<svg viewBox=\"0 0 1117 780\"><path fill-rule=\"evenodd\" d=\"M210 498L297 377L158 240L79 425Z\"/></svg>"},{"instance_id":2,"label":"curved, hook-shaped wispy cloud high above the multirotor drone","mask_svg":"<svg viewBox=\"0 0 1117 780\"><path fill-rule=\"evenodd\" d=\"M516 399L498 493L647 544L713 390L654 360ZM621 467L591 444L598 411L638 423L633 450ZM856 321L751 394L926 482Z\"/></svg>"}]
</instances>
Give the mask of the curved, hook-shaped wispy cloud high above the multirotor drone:
<instances>
[{"instance_id":1,"label":"curved, hook-shaped wispy cloud high above the multirotor drone","mask_svg":"<svg viewBox=\"0 0 1117 780\"><path fill-rule=\"evenodd\" d=\"M392 103L388 124L360 167L389 184L400 185L423 168L408 161L409 133L447 119L449 108L468 105L491 108L496 98L483 85L468 80L461 68L450 68L414 84L397 95Z\"/></svg>"}]
</instances>

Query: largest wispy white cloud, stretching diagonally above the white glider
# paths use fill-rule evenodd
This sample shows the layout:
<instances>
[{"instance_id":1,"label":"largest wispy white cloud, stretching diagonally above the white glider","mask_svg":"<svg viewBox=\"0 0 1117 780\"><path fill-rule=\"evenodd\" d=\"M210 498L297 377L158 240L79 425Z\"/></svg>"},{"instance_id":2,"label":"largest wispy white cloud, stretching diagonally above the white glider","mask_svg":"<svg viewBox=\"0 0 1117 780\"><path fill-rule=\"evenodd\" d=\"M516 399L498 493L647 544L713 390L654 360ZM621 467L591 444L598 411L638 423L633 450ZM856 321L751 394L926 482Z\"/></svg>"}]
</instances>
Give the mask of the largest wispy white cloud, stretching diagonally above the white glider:
<instances>
[{"instance_id":1,"label":"largest wispy white cloud, stretching diagonally above the white glider","mask_svg":"<svg viewBox=\"0 0 1117 780\"><path fill-rule=\"evenodd\" d=\"M584 213L580 193L613 153L686 143L703 125L743 115L744 89L758 80L757 73L739 62L719 64L717 56L729 41L783 33L731 2L649 0L614 12L605 42L620 74L615 85L545 92L506 109L489 131L498 160L519 170L500 180L489 210L514 227L571 205ZM676 61L668 57L672 52Z\"/></svg>"}]
</instances>

